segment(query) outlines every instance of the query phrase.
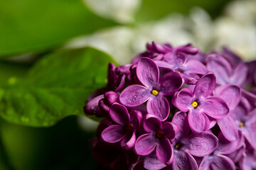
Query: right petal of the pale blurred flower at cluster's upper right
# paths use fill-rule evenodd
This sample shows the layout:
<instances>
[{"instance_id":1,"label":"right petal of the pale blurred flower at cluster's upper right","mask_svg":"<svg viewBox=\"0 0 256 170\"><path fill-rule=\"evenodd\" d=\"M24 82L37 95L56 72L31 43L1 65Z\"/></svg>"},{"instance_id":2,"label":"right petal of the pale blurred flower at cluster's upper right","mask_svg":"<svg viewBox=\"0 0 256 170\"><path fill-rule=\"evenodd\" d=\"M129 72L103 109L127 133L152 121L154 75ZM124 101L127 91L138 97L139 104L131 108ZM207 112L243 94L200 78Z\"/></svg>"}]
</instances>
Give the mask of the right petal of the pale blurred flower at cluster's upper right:
<instances>
[{"instance_id":1,"label":"right petal of the pale blurred flower at cluster's upper right","mask_svg":"<svg viewBox=\"0 0 256 170\"><path fill-rule=\"evenodd\" d=\"M230 77L230 83L237 86L242 86L247 79L248 68L244 63L238 64L238 67L235 68L232 77Z\"/></svg>"}]
</instances>

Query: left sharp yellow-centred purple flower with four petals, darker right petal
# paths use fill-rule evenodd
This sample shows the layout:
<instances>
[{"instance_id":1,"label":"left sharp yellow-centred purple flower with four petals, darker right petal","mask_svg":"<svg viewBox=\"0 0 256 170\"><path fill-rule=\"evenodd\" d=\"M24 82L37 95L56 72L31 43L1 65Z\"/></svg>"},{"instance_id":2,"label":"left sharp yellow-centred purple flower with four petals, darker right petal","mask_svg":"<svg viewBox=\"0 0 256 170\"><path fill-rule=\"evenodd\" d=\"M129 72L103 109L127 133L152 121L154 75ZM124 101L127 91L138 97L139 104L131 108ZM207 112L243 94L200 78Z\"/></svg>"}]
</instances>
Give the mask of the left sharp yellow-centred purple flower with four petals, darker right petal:
<instances>
[{"instance_id":1,"label":"left sharp yellow-centred purple flower with four petals, darker right petal","mask_svg":"<svg viewBox=\"0 0 256 170\"><path fill-rule=\"evenodd\" d=\"M137 77L142 85L128 86L120 94L120 102L124 106L134 107L146 102L148 113L166 120L169 115L169 102L164 96L174 94L181 88L183 81L176 72L169 72L159 79L159 68L153 60L142 57L137 65Z\"/></svg>"}]
</instances>

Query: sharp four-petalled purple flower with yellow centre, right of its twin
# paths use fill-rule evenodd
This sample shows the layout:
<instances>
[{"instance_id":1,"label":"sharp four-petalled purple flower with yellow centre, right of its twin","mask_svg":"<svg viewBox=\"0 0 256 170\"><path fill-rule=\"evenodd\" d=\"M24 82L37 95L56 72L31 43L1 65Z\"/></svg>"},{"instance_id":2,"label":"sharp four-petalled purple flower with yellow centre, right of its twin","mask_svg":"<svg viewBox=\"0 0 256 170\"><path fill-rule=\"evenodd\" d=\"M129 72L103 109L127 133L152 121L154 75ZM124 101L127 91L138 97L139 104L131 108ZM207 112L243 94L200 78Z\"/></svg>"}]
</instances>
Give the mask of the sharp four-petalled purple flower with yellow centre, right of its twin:
<instances>
[{"instance_id":1,"label":"sharp four-petalled purple flower with yellow centre, right of its twin","mask_svg":"<svg viewBox=\"0 0 256 170\"><path fill-rule=\"evenodd\" d=\"M215 76L208 73L198 80L193 92L181 89L174 94L172 103L180 111L188 111L188 123L193 132L204 132L210 128L210 120L224 118L228 106L223 99L210 96L215 89Z\"/></svg>"}]
</instances>

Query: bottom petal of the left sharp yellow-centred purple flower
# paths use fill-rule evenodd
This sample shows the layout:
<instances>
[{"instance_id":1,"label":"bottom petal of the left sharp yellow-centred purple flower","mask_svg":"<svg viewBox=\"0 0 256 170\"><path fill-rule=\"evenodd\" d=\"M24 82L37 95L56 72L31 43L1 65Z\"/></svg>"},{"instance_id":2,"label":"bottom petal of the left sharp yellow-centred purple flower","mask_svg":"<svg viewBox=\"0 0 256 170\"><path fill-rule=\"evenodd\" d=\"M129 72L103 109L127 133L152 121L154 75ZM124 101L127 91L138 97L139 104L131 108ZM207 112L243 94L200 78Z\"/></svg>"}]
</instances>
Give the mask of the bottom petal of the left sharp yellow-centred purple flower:
<instances>
[{"instance_id":1,"label":"bottom petal of the left sharp yellow-centred purple flower","mask_svg":"<svg viewBox=\"0 0 256 170\"><path fill-rule=\"evenodd\" d=\"M164 96L149 98L149 101L146 103L146 110L149 114L156 115L157 118L164 121L170 112L169 102Z\"/></svg>"}]
</instances>

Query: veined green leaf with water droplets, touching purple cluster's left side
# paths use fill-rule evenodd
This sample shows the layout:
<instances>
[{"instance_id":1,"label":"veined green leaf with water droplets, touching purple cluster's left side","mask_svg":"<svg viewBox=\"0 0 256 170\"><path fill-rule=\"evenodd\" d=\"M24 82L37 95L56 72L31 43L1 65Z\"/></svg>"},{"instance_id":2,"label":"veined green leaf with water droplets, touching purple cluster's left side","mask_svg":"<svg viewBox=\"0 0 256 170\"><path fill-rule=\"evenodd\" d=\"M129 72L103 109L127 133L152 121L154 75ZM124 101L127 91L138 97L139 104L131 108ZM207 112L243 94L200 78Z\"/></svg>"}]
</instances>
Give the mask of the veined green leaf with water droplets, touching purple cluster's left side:
<instances>
[{"instance_id":1,"label":"veined green leaf with water droplets, touching purple cluster's left side","mask_svg":"<svg viewBox=\"0 0 256 170\"><path fill-rule=\"evenodd\" d=\"M26 79L0 89L0 114L11 123L38 127L83 115L87 97L107 83L109 62L114 62L109 55L91 47L53 52Z\"/></svg>"}]
</instances>

